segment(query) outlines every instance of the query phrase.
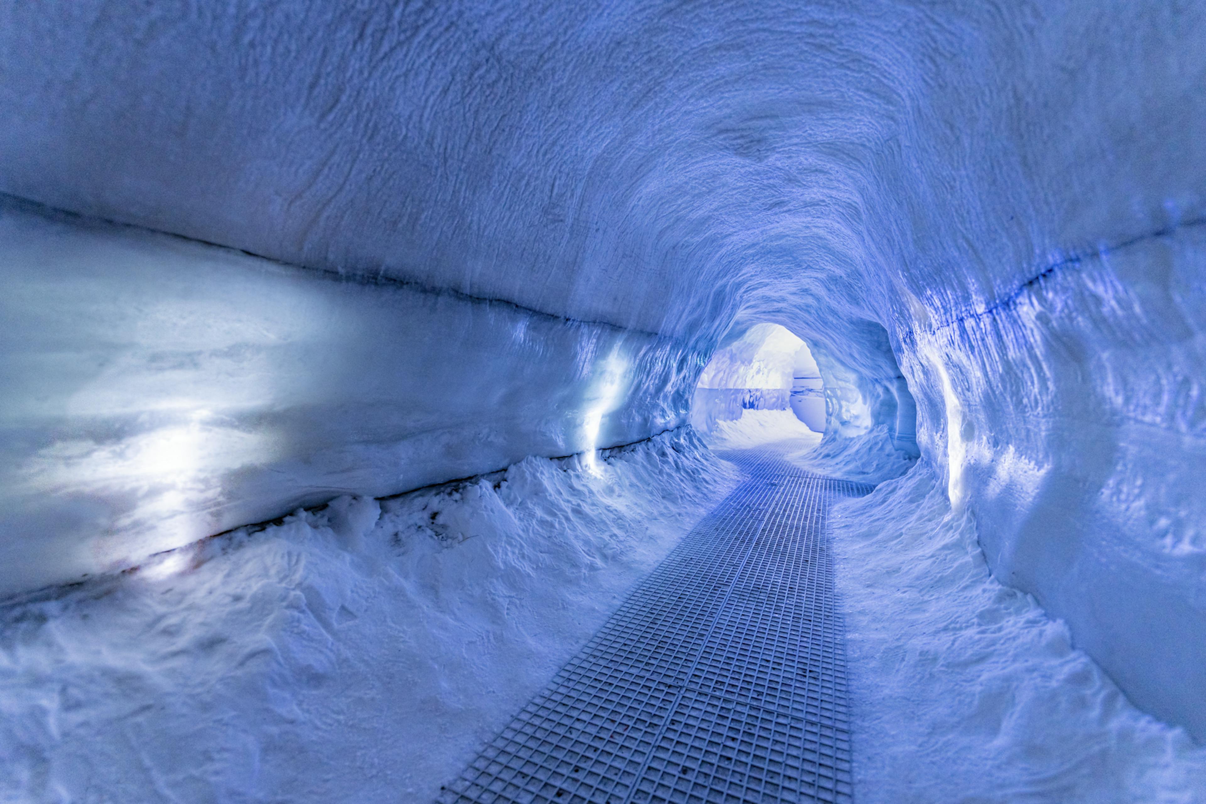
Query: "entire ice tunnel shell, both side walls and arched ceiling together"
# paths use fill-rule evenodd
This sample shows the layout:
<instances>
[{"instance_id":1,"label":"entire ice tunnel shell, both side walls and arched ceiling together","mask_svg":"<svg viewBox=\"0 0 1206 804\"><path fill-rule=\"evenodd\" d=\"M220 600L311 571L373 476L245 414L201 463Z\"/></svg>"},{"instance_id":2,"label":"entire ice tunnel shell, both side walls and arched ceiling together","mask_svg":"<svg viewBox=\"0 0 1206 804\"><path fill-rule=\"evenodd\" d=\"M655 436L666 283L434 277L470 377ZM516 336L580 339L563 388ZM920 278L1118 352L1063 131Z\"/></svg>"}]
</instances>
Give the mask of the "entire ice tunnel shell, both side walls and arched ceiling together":
<instances>
[{"instance_id":1,"label":"entire ice tunnel shell, both side walls and arched ceiling together","mask_svg":"<svg viewBox=\"0 0 1206 804\"><path fill-rule=\"evenodd\" d=\"M1206 738L1202 42L1123 0L4 4L0 591L646 438L777 322L827 438L907 380L996 575Z\"/></svg>"}]
</instances>

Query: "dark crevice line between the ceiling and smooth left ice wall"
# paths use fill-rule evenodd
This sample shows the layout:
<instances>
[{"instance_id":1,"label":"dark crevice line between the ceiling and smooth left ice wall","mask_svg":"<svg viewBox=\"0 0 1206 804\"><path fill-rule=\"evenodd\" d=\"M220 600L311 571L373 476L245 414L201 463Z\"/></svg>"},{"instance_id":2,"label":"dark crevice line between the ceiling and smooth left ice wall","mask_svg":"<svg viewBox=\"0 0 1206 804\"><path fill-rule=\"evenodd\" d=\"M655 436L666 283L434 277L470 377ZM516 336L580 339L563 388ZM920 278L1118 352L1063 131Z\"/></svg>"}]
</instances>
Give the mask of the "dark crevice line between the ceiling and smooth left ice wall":
<instances>
[{"instance_id":1,"label":"dark crevice line between the ceiling and smooth left ice wall","mask_svg":"<svg viewBox=\"0 0 1206 804\"><path fill-rule=\"evenodd\" d=\"M238 248L235 246L227 246L224 243L213 242L211 240L205 240L203 237L192 237L189 235L181 235L174 231L164 231L163 229L152 229L150 227L144 227L136 223L125 223L124 221L117 221L113 218L105 218L95 215L72 212L70 210L51 206L49 204L42 204L41 201L35 201L33 199L23 198L21 195L13 195L11 193L0 192L0 205L17 207L21 209L22 211L30 212L40 217L48 218L51 221L83 223L86 225L87 224L95 225L100 223L118 229L133 229L135 231L150 233L163 237L172 237L175 240L180 240L188 243L209 246L212 248L221 248L222 251L234 252L238 254L244 254L246 257L253 257L256 259L265 260L280 268L285 268L303 274L315 275L317 278L324 278L333 282L344 282L347 284L359 284L365 287L404 289L422 295L431 295L437 298L444 297L449 299L455 299L457 301L464 301L468 304L504 307L507 310L513 310L515 312L531 316L533 318L552 321L569 327L593 327L597 329L605 329L613 333L644 335L646 338L651 338L658 341L666 341L679 346L685 345L685 341L680 338L651 331L648 329L624 327L621 324L616 324L610 321L597 321L591 318L573 318L570 316L561 316L557 313L546 312L544 310L537 310L535 307L528 307L516 301L510 301L508 299L479 297L472 293L466 293L464 291L457 291L455 288L441 288L432 284L426 284L416 280L403 280L393 276L387 276L384 274L384 269L377 269L375 271L362 271L362 270L343 271L329 268L299 265L297 263L289 263L283 259L277 259L276 257L268 257L267 254L259 254L257 252L247 251L246 248Z\"/></svg>"}]
</instances>

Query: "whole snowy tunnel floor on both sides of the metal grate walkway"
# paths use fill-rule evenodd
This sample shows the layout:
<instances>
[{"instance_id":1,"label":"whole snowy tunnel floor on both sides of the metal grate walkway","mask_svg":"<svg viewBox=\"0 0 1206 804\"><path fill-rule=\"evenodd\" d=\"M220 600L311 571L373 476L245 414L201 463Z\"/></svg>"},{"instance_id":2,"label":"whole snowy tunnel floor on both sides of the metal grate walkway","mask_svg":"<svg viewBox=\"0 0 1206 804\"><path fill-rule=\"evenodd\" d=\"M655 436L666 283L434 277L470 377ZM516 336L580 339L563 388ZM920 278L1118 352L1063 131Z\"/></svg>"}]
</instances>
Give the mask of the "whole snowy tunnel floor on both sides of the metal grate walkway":
<instances>
[{"instance_id":1,"label":"whole snowy tunnel floor on both sides of the metal grate walkway","mask_svg":"<svg viewBox=\"0 0 1206 804\"><path fill-rule=\"evenodd\" d=\"M808 438L779 412L709 439ZM797 459L904 471L873 435ZM529 458L344 498L8 604L0 802L431 800L736 483L672 434L597 474ZM929 465L831 526L860 804L1206 802L1206 751L991 579Z\"/></svg>"}]
</instances>

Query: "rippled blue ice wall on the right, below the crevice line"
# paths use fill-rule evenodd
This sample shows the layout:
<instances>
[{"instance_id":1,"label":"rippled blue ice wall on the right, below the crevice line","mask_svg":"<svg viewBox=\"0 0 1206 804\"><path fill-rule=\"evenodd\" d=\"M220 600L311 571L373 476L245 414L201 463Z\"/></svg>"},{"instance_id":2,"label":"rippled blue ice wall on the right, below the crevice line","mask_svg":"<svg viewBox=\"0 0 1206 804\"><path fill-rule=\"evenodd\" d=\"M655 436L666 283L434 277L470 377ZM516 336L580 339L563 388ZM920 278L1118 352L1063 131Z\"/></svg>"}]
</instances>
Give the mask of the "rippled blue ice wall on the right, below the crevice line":
<instances>
[{"instance_id":1,"label":"rippled blue ice wall on the right, below the crevice line","mask_svg":"<svg viewBox=\"0 0 1206 804\"><path fill-rule=\"evenodd\" d=\"M1206 184L1204 184L1206 186ZM1006 583L1141 706L1206 740L1206 227L931 322L912 360L947 489ZM925 436L935 439L935 430Z\"/></svg>"}]
</instances>

